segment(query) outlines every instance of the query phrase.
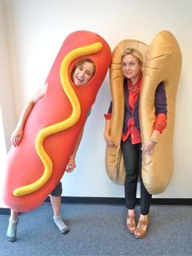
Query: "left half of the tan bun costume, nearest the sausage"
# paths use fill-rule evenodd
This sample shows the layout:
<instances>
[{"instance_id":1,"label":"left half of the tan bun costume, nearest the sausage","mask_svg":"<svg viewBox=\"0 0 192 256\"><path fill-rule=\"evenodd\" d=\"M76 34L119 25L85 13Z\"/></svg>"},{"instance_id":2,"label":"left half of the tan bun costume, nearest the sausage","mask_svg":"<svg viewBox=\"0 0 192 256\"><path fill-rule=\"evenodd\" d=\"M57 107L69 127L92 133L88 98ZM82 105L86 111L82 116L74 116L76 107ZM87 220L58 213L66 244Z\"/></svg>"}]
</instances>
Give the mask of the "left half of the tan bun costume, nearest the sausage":
<instances>
[{"instance_id":1,"label":"left half of the tan bun costume, nearest the sausage","mask_svg":"<svg viewBox=\"0 0 192 256\"><path fill-rule=\"evenodd\" d=\"M106 146L105 168L110 179L118 184L124 184L125 180L125 167L121 151L124 117L123 72L121 58L124 50L129 47L138 49L143 56L145 56L145 52L147 50L147 45L145 43L137 40L123 40L114 48L109 68L110 89L113 101L110 135L118 146Z\"/></svg>"}]
</instances>

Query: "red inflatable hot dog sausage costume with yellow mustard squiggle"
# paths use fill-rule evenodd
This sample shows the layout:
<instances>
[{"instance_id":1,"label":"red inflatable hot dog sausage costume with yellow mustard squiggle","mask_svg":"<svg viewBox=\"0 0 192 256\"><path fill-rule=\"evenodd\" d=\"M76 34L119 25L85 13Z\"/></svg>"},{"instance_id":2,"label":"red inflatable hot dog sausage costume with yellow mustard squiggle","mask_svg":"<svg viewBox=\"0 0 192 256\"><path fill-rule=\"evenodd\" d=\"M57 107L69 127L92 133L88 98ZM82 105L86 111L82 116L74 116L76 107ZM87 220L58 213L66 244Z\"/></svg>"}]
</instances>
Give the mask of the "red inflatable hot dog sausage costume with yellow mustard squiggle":
<instances>
[{"instance_id":1,"label":"red inflatable hot dog sausage costume with yellow mustard squiggle","mask_svg":"<svg viewBox=\"0 0 192 256\"><path fill-rule=\"evenodd\" d=\"M87 84L76 87L70 74L83 56L92 59L96 72ZM77 31L65 39L47 76L47 92L33 106L20 145L9 151L3 190L8 207L18 212L35 209L56 187L110 58L109 45L98 34Z\"/></svg>"}]
</instances>

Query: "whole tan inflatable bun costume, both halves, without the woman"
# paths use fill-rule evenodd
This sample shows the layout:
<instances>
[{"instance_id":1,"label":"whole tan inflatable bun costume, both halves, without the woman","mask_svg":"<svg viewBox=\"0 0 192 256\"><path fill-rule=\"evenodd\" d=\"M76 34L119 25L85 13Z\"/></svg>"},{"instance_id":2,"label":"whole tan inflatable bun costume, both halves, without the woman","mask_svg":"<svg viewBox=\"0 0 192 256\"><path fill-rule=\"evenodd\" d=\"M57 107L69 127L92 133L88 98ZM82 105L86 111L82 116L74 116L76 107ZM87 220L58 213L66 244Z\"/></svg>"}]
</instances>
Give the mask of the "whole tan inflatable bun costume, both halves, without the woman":
<instances>
[{"instance_id":1,"label":"whole tan inflatable bun costume, both halves, without the woman","mask_svg":"<svg viewBox=\"0 0 192 256\"><path fill-rule=\"evenodd\" d=\"M142 142L148 141L154 127L154 93L163 81L167 96L167 127L159 137L152 155L143 155L141 175L147 191L159 194L172 177L172 141L175 119L176 91L181 74L181 50L176 38L162 31L148 47L136 40L123 40L112 54L110 85L113 100L110 134L118 146L106 148L105 166L112 181L124 184L125 168L120 141L123 129L123 73L121 56L125 48L134 47L145 56L140 95L140 125Z\"/></svg>"}]
</instances>

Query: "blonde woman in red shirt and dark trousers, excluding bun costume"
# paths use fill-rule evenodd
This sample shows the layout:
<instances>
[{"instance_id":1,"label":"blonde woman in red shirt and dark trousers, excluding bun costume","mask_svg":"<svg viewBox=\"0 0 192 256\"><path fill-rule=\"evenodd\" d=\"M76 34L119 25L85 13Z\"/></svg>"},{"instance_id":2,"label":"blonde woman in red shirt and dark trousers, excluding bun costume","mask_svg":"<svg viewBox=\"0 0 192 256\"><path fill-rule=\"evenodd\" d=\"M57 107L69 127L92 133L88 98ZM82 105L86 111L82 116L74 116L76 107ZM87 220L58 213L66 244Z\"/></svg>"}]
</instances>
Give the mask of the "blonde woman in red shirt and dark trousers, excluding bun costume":
<instances>
[{"instance_id":1,"label":"blonde woman in red shirt and dark trousers, excluding bun costume","mask_svg":"<svg viewBox=\"0 0 192 256\"><path fill-rule=\"evenodd\" d=\"M159 83L154 97L156 119L153 132L148 141L141 146L141 129L139 121L139 97L141 92L143 56L136 48L126 48L122 58L124 118L121 148L125 164L125 205L127 208L127 229L136 238L143 238L149 225L151 194L146 190L141 176L142 153L152 154L159 141L159 136L167 125L167 99L163 83ZM116 146L116 141L110 136L110 119L113 103L110 103L108 114L105 115L105 141L108 146ZM136 225L136 187L137 180L141 182L141 214Z\"/></svg>"}]
</instances>

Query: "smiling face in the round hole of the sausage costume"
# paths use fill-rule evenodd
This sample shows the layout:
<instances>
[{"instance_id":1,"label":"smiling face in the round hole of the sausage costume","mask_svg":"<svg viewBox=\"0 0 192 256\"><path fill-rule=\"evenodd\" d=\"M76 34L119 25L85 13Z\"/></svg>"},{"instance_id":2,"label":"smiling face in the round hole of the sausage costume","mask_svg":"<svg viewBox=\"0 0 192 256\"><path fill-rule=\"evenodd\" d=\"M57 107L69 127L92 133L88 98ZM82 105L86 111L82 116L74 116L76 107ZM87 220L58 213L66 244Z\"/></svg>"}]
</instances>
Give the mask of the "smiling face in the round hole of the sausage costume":
<instances>
[{"instance_id":1,"label":"smiling face in the round hole of the sausage costume","mask_svg":"<svg viewBox=\"0 0 192 256\"><path fill-rule=\"evenodd\" d=\"M92 74L94 73L94 66L92 63L85 61L82 65L78 65L76 70L74 70L74 84L77 86L84 85L92 79Z\"/></svg>"}]
</instances>

